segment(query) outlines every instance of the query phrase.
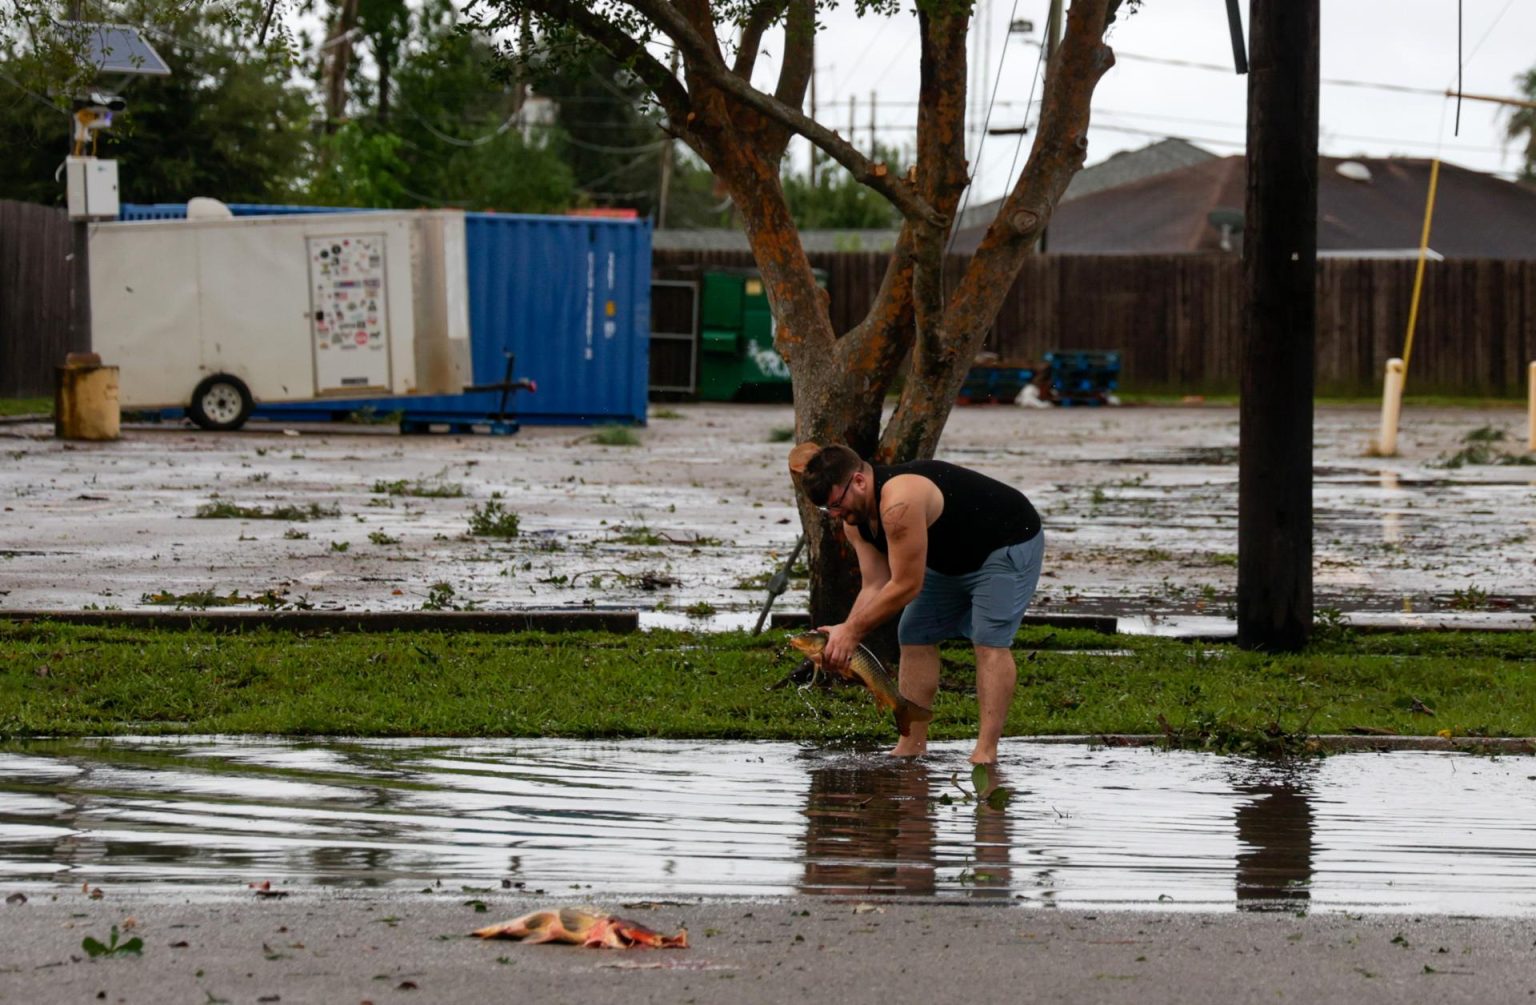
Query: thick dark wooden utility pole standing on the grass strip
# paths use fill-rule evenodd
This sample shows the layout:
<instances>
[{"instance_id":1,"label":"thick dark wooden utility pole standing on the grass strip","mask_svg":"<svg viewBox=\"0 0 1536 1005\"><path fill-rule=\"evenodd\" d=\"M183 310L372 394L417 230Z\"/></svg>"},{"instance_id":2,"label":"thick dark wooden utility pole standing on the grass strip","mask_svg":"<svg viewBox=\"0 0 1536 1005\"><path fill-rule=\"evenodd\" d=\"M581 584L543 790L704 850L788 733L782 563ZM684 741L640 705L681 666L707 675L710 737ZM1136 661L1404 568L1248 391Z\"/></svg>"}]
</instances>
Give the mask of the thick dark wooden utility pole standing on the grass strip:
<instances>
[{"instance_id":1,"label":"thick dark wooden utility pole standing on the grass strip","mask_svg":"<svg viewBox=\"0 0 1536 1005\"><path fill-rule=\"evenodd\" d=\"M1270 652L1312 635L1318 3L1249 8L1238 645Z\"/></svg>"}]
</instances>

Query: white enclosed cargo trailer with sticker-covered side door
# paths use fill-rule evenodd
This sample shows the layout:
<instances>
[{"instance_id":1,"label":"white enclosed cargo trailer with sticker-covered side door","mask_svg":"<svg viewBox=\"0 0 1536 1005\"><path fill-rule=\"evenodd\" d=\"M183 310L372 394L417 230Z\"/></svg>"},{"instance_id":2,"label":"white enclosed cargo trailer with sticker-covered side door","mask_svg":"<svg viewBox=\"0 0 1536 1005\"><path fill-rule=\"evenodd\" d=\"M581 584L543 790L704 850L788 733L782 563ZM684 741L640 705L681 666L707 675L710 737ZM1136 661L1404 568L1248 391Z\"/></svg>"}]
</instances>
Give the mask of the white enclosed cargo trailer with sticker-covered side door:
<instances>
[{"instance_id":1,"label":"white enclosed cargo trailer with sticker-covered side door","mask_svg":"<svg viewBox=\"0 0 1536 1005\"><path fill-rule=\"evenodd\" d=\"M181 406L204 429L257 401L461 393L464 215L92 224L91 327L124 410Z\"/></svg>"}]
</instances>

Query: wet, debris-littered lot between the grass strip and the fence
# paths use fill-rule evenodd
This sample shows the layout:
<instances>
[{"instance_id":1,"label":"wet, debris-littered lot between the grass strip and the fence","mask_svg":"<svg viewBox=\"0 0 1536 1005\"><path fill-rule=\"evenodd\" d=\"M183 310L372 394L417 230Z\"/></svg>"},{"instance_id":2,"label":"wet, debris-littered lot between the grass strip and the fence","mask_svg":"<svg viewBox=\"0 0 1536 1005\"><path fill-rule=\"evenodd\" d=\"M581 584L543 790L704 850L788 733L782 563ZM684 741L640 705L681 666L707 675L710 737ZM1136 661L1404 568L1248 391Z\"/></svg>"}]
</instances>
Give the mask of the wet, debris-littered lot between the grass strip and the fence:
<instances>
[{"instance_id":1,"label":"wet, debris-littered lot between the grass strip and the fence","mask_svg":"<svg viewBox=\"0 0 1536 1005\"><path fill-rule=\"evenodd\" d=\"M1518 409L1318 407L1318 609L1358 621L1531 627L1536 466ZM395 427L61 443L0 426L0 613L81 609L616 607L750 622L799 535L788 406L653 410L634 446L585 427ZM1021 487L1046 521L1038 613L1233 610L1235 407L957 409L938 456ZM515 519L516 536L505 533ZM803 610L791 581L776 610ZM710 618L714 618L711 622ZM653 621L654 622L654 621Z\"/></svg>"}]
</instances>

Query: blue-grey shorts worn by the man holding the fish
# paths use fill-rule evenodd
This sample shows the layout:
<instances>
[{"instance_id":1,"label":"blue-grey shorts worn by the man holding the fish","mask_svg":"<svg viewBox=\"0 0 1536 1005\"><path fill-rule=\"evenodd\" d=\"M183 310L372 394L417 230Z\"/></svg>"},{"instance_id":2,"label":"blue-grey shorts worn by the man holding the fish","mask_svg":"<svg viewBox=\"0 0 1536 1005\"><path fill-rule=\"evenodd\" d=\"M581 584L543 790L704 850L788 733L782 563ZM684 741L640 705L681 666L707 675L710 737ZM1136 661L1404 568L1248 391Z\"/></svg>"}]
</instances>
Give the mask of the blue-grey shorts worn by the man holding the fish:
<instances>
[{"instance_id":1,"label":"blue-grey shorts worn by the man holding the fish","mask_svg":"<svg viewBox=\"0 0 1536 1005\"><path fill-rule=\"evenodd\" d=\"M1023 544L997 549L975 572L946 576L929 569L917 599L902 612L897 639L902 645L937 645L963 635L977 645L1012 648L1044 553L1041 530Z\"/></svg>"}]
</instances>

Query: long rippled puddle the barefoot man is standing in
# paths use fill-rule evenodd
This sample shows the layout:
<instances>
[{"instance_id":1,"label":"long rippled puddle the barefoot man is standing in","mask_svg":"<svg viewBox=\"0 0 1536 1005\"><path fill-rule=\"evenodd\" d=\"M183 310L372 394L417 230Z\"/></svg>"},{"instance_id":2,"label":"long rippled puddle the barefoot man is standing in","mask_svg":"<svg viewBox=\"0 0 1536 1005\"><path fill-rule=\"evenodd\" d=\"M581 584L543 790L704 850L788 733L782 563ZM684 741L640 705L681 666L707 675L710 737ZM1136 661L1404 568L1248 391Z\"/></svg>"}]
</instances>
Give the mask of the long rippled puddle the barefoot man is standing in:
<instances>
[{"instance_id":1,"label":"long rippled puddle the barefoot man is standing in","mask_svg":"<svg viewBox=\"0 0 1536 1005\"><path fill-rule=\"evenodd\" d=\"M129 738L0 748L0 887L521 884L1140 910L1536 916L1536 765L1289 765L1011 742L919 764L793 744ZM945 798L949 798L948 802ZM435 884L441 881L441 887Z\"/></svg>"}]
</instances>

